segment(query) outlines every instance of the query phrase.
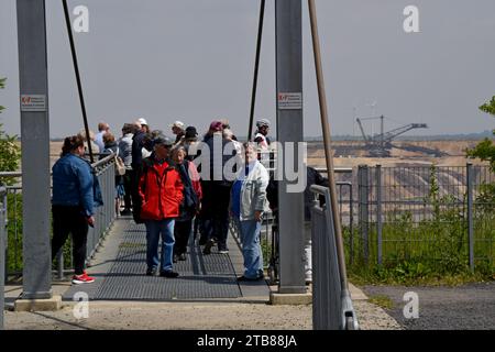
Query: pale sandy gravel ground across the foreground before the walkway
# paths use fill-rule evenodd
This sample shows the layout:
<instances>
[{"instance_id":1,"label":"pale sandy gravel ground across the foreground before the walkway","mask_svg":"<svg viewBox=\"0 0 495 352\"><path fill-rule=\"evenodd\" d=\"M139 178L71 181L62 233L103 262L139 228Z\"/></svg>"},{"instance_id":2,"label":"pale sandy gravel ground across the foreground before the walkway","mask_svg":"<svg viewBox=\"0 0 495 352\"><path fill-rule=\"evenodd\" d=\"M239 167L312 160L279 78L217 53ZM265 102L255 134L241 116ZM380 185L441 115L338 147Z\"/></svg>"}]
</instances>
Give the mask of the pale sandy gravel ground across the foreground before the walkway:
<instances>
[{"instance_id":1,"label":"pale sandy gravel ground across the foreground before the walkway","mask_svg":"<svg viewBox=\"0 0 495 352\"><path fill-rule=\"evenodd\" d=\"M62 286L56 286L62 290ZM16 292L11 290L12 297ZM351 286L353 306L362 330L397 330L400 326L382 308ZM6 311L8 330L310 330L312 306L272 306L264 302L140 302L90 301L88 318L74 316L75 302L65 301L59 311Z\"/></svg>"}]
</instances>

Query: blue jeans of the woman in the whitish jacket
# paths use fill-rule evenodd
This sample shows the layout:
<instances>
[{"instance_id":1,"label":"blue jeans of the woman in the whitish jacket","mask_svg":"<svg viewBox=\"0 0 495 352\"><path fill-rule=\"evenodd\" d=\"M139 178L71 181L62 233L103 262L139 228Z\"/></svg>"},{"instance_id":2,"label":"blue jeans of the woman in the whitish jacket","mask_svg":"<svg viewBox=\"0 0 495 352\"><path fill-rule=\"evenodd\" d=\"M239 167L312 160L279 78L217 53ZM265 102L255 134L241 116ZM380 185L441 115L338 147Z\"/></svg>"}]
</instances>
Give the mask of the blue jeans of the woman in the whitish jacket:
<instances>
[{"instance_id":1,"label":"blue jeans of the woman in the whitish jacket","mask_svg":"<svg viewBox=\"0 0 495 352\"><path fill-rule=\"evenodd\" d=\"M244 277L257 278L263 274L263 253L260 243L261 222L237 220L241 231Z\"/></svg>"}]
</instances>

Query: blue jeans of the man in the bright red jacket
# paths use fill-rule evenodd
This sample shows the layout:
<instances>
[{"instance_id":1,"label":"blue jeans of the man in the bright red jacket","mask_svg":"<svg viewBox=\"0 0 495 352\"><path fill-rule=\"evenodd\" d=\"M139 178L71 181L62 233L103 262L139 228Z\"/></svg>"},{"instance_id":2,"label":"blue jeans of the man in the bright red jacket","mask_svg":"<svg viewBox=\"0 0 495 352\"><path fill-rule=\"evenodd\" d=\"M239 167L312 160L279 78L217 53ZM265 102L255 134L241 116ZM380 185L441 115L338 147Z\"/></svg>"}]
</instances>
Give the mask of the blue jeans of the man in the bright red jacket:
<instances>
[{"instance_id":1,"label":"blue jeans of the man in the bright red jacket","mask_svg":"<svg viewBox=\"0 0 495 352\"><path fill-rule=\"evenodd\" d=\"M161 264L161 272L170 272L174 253L174 219L146 220L146 264L147 268L156 268ZM158 242L162 235L162 257L158 261Z\"/></svg>"}]
</instances>

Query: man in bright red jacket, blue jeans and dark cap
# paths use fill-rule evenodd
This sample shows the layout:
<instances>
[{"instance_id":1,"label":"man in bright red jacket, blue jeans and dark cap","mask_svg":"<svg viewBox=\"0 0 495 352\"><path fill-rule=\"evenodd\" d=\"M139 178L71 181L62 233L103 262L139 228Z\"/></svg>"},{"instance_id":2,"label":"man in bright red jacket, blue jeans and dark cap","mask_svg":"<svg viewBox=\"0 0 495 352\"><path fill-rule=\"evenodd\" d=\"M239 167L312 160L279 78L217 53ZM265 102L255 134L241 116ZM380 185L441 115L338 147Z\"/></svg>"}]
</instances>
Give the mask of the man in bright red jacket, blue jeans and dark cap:
<instances>
[{"instance_id":1,"label":"man in bright red jacket, blue jeans and dark cap","mask_svg":"<svg viewBox=\"0 0 495 352\"><path fill-rule=\"evenodd\" d=\"M173 271L174 224L179 216L184 185L180 176L169 164L168 152L173 141L164 135L154 139L152 155L143 160L139 196L141 219L146 226L146 275L177 277ZM162 235L162 257L158 261L158 242Z\"/></svg>"}]
</instances>

